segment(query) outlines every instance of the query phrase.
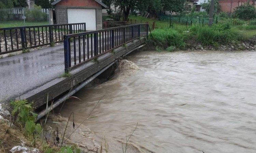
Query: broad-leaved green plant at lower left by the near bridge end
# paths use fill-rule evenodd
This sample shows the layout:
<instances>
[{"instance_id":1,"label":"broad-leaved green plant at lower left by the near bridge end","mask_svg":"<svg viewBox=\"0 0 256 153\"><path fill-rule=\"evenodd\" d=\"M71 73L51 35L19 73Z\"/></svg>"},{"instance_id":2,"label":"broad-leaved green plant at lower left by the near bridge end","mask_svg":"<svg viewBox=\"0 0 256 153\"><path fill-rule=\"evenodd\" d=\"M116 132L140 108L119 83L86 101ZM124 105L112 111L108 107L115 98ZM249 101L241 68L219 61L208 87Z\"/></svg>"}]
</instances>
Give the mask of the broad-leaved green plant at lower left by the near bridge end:
<instances>
[{"instance_id":1,"label":"broad-leaved green plant at lower left by the near bridge end","mask_svg":"<svg viewBox=\"0 0 256 153\"><path fill-rule=\"evenodd\" d=\"M33 133L41 133L42 127L40 124L36 124L37 114L33 112L33 103L28 103L27 100L12 101L13 106L12 116L16 119L17 125L22 125L26 135L31 136Z\"/></svg>"}]
</instances>

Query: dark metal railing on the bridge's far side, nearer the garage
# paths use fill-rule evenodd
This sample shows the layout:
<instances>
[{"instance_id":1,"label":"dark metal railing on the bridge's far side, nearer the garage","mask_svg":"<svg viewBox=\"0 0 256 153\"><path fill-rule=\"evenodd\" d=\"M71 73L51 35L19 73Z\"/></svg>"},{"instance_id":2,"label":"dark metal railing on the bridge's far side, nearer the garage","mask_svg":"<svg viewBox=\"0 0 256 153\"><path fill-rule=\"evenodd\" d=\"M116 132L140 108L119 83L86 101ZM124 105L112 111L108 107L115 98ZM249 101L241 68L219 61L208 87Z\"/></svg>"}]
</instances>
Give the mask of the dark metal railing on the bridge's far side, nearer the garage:
<instances>
[{"instance_id":1,"label":"dark metal railing on the bridge's far side, nearer the garage","mask_svg":"<svg viewBox=\"0 0 256 153\"><path fill-rule=\"evenodd\" d=\"M60 43L63 36L86 31L86 23L0 28L0 55Z\"/></svg>"}]
</instances>

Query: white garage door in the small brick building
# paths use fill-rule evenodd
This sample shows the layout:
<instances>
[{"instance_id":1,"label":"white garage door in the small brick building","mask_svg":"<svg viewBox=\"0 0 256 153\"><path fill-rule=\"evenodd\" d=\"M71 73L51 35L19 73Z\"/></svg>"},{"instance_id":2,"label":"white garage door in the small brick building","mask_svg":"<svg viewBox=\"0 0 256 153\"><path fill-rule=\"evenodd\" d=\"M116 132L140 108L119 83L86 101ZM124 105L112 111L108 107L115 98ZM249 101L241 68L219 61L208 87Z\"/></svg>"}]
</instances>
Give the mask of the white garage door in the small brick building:
<instances>
[{"instance_id":1,"label":"white garage door in the small brick building","mask_svg":"<svg viewBox=\"0 0 256 153\"><path fill-rule=\"evenodd\" d=\"M96 9L68 8L68 23L86 22L86 30L96 30Z\"/></svg>"}]
</instances>

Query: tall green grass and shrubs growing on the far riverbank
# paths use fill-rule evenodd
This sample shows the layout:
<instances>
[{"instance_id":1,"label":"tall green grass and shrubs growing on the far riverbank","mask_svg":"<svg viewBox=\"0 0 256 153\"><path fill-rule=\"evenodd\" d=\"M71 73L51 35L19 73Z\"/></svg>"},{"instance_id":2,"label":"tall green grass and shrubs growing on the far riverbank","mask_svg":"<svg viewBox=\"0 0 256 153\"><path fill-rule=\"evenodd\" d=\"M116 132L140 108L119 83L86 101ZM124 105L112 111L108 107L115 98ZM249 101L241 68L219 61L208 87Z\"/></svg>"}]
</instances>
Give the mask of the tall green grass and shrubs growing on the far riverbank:
<instances>
[{"instance_id":1,"label":"tall green grass and shrubs growing on the far riverbank","mask_svg":"<svg viewBox=\"0 0 256 153\"><path fill-rule=\"evenodd\" d=\"M194 24L188 28L174 24L171 28L155 29L152 36L149 35L147 43L163 50L167 50L168 47L188 49L196 45L217 49L220 45L247 41L255 35L256 32L251 34L246 31L246 28L232 27L229 22L214 24L212 27Z\"/></svg>"}]
</instances>

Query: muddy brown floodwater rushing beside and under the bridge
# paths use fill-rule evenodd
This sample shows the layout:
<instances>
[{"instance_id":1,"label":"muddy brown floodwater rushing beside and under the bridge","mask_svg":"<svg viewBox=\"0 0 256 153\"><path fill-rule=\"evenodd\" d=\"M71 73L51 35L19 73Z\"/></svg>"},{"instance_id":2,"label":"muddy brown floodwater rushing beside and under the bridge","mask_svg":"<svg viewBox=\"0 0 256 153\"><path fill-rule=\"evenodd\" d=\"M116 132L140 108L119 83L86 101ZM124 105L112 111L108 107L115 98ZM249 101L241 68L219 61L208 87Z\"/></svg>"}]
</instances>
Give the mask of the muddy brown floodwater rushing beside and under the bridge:
<instances>
[{"instance_id":1,"label":"muddy brown floodwater rushing beside and under the bridge","mask_svg":"<svg viewBox=\"0 0 256 153\"><path fill-rule=\"evenodd\" d=\"M256 52L144 51L126 60L110 81L54 110L66 120L74 112L77 127L105 95L70 141L106 141L121 153L138 122L127 153L256 152Z\"/></svg>"}]
</instances>

